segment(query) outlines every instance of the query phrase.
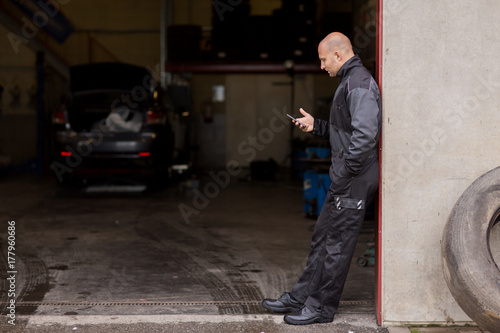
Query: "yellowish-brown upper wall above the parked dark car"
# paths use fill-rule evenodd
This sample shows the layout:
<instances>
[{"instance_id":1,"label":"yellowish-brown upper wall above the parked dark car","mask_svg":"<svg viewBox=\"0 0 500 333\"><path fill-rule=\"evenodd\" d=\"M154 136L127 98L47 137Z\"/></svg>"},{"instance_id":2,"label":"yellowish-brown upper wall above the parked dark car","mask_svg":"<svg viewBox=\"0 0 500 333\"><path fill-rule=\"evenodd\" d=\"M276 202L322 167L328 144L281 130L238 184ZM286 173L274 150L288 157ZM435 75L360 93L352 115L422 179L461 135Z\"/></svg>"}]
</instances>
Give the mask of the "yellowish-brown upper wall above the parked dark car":
<instances>
[{"instance_id":1,"label":"yellowish-brown upper wall above the parked dark car","mask_svg":"<svg viewBox=\"0 0 500 333\"><path fill-rule=\"evenodd\" d=\"M70 65L113 60L159 65L160 1L71 1L61 11L75 26L62 47Z\"/></svg>"}]
</instances>

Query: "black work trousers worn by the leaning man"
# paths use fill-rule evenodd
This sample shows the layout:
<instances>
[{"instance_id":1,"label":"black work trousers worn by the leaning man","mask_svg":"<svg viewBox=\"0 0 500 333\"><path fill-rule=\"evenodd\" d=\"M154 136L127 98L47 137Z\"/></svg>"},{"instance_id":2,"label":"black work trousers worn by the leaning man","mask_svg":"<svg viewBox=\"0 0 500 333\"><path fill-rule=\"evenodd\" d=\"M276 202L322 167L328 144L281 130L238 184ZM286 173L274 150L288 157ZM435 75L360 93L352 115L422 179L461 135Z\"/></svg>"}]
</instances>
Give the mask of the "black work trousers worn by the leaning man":
<instances>
[{"instance_id":1,"label":"black work trousers worn by the leaning man","mask_svg":"<svg viewBox=\"0 0 500 333\"><path fill-rule=\"evenodd\" d=\"M339 306L367 201L373 198L378 179L378 158L374 157L352 178L347 190L338 193L334 184L328 190L304 272L291 291L293 298L312 311L320 311L324 318L333 318ZM350 202L363 200L364 205L360 209L344 208L338 204L339 197Z\"/></svg>"}]
</instances>

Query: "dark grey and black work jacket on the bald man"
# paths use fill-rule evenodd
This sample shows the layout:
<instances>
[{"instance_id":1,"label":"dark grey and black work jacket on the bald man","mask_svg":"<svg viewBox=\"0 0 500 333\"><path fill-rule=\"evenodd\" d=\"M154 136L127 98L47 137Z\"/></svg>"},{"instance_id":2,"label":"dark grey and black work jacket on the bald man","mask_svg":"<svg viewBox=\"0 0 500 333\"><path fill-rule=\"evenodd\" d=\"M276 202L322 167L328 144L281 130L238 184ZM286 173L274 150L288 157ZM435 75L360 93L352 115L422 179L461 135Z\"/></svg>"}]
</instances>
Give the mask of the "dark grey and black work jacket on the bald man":
<instances>
[{"instance_id":1,"label":"dark grey and black work jacket on the bald man","mask_svg":"<svg viewBox=\"0 0 500 333\"><path fill-rule=\"evenodd\" d=\"M377 83L356 55L340 68L330 121L315 119L312 133L330 140L333 159L341 158L339 174L359 174L369 157L378 156L382 120Z\"/></svg>"}]
</instances>

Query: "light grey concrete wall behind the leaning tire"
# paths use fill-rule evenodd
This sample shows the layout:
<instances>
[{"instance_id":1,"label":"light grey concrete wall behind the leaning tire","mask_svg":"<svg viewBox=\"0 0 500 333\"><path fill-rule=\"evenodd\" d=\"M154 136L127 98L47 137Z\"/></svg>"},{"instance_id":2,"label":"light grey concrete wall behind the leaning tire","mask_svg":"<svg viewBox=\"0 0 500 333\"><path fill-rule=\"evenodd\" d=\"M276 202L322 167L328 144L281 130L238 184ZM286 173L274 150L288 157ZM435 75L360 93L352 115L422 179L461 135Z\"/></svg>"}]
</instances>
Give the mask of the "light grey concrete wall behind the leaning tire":
<instances>
[{"instance_id":1,"label":"light grey concrete wall behind the leaning tire","mask_svg":"<svg viewBox=\"0 0 500 333\"><path fill-rule=\"evenodd\" d=\"M462 192L500 165L500 2L383 4L382 318L469 321L441 237Z\"/></svg>"}]
</instances>

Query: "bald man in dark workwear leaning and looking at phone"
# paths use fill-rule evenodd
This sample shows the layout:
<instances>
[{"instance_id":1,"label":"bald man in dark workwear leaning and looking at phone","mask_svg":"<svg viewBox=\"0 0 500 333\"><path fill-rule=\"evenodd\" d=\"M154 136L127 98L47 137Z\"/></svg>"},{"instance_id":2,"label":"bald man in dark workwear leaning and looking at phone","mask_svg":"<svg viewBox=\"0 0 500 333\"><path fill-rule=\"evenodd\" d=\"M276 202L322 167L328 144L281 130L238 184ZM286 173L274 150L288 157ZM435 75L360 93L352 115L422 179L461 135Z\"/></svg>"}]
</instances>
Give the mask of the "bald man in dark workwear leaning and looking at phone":
<instances>
[{"instance_id":1,"label":"bald man in dark workwear leaning and looking at phone","mask_svg":"<svg viewBox=\"0 0 500 333\"><path fill-rule=\"evenodd\" d=\"M349 39L329 34L318 46L321 69L341 77L330 120L315 119L302 108L294 121L302 131L330 142L331 186L316 221L304 271L291 292L262 305L293 325L333 321L356 247L365 208L378 188L381 101L377 83L353 53ZM302 124L300 124L300 123Z\"/></svg>"}]
</instances>

